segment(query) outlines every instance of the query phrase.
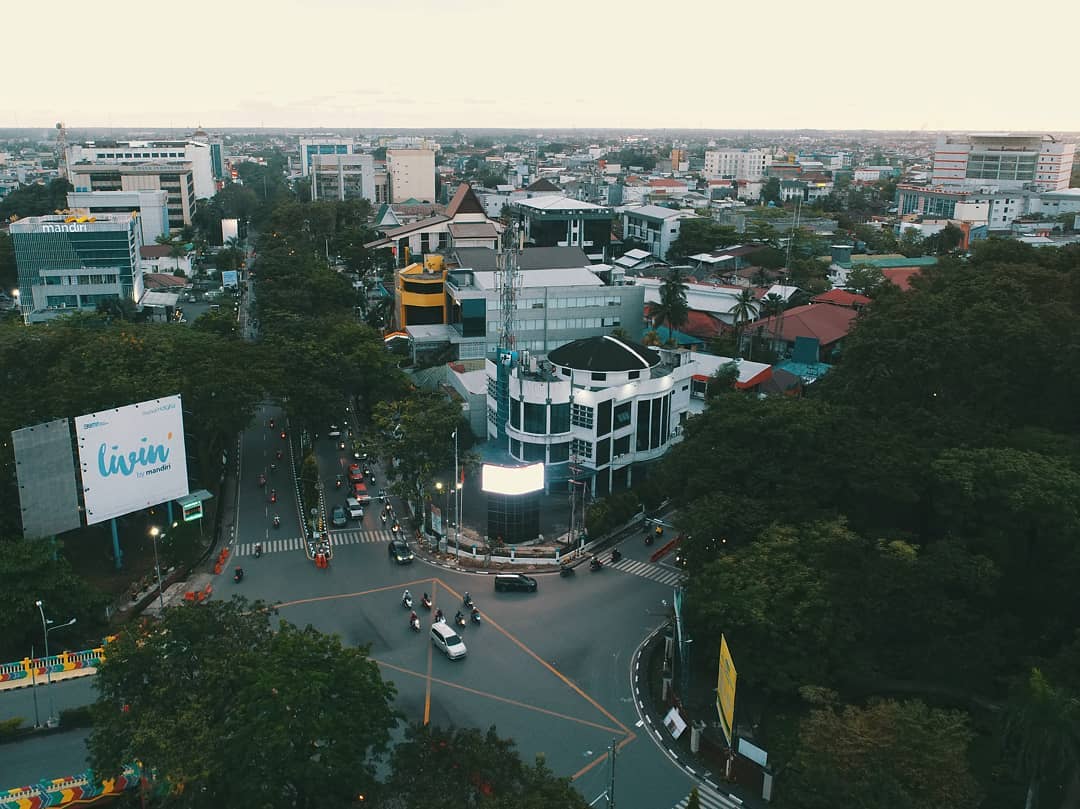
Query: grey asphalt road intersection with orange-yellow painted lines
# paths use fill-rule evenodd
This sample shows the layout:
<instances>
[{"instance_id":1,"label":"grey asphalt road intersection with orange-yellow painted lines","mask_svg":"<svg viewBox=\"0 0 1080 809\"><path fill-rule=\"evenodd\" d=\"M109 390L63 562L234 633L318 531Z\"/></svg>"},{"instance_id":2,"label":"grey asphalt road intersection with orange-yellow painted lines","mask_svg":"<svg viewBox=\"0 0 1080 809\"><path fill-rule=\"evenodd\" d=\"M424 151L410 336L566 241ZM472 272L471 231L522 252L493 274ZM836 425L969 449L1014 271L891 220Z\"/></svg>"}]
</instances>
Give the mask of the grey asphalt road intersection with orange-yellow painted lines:
<instances>
[{"instance_id":1,"label":"grey asphalt road intersection with orange-yellow painted lines","mask_svg":"<svg viewBox=\"0 0 1080 809\"><path fill-rule=\"evenodd\" d=\"M539 575L535 594L495 593L488 576L421 559L395 564L387 553L390 532L376 507L362 523L330 531L334 561L328 569L318 569L300 539L295 481L287 464L275 458L275 451L287 451L289 443L281 439L280 412L270 407L262 408L243 434L233 552L246 575L237 584L231 570L222 574L214 597L241 592L280 602L282 618L337 633L347 644L370 645L373 659L397 688L396 707L407 722L495 725L500 734L516 740L524 760L542 754L556 773L575 778L590 801L608 788L605 751L612 741L619 745L620 807L665 809L685 799L690 780L638 726L632 699L634 650L665 621L671 583L678 578L672 568L648 562L653 549L635 536L622 544L624 557L613 569L590 572L580 566L568 578ZM333 507L346 496L334 488L334 478L347 468L349 457L325 436L316 441L315 451L327 505ZM273 462L275 471L269 469ZM278 503L269 503L267 490L257 485L264 470L279 494ZM380 486L381 471L375 468ZM279 529L270 523L274 512L282 517ZM252 556L256 542L265 549L258 559ZM409 630L408 612L401 606L406 586L417 598L418 611L423 612L419 596L428 592L449 616L462 594L471 592L483 623L461 631L469 648L463 660L449 661L433 650L428 614L421 616L422 633ZM91 695L71 699L77 703ZM0 696L0 706L6 707L3 700ZM70 746L64 744L65 750ZM68 753L58 755L67 760ZM50 759L39 777L65 774Z\"/></svg>"}]
</instances>

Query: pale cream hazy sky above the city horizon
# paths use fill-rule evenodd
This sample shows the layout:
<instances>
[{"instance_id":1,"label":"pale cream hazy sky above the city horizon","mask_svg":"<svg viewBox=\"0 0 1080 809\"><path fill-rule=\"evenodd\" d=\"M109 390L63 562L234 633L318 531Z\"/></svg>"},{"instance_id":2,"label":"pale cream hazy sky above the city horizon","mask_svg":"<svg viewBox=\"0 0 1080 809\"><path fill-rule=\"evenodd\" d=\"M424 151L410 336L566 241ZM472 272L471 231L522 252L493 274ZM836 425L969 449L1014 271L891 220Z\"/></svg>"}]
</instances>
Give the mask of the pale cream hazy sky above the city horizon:
<instances>
[{"instance_id":1,"label":"pale cream hazy sky above the city horizon","mask_svg":"<svg viewBox=\"0 0 1080 809\"><path fill-rule=\"evenodd\" d=\"M0 126L1080 131L1076 0L62 6L3 1Z\"/></svg>"}]
</instances>

